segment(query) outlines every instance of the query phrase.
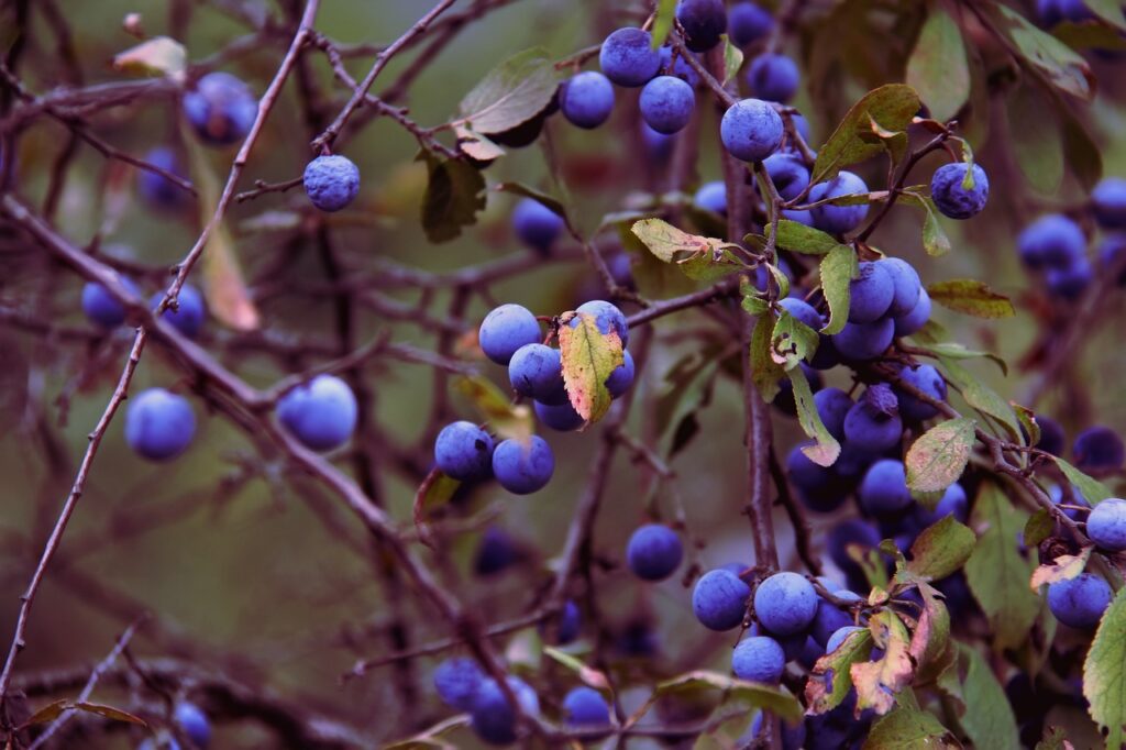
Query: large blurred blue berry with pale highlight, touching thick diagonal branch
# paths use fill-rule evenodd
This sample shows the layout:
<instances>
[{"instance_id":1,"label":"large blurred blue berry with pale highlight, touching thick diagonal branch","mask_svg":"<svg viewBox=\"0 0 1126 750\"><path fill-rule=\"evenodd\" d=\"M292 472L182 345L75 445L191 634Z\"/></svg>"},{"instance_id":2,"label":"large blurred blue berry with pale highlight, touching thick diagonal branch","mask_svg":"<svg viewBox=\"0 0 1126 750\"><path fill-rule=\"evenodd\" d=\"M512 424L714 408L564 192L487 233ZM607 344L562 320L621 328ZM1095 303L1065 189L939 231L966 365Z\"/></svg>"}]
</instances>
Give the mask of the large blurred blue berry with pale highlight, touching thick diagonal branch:
<instances>
[{"instance_id":1,"label":"large blurred blue berry with pale highlight, touching thick diagonal branch","mask_svg":"<svg viewBox=\"0 0 1126 750\"><path fill-rule=\"evenodd\" d=\"M356 394L336 375L318 375L278 402L278 419L313 450L331 450L347 443L358 416Z\"/></svg>"}]
</instances>

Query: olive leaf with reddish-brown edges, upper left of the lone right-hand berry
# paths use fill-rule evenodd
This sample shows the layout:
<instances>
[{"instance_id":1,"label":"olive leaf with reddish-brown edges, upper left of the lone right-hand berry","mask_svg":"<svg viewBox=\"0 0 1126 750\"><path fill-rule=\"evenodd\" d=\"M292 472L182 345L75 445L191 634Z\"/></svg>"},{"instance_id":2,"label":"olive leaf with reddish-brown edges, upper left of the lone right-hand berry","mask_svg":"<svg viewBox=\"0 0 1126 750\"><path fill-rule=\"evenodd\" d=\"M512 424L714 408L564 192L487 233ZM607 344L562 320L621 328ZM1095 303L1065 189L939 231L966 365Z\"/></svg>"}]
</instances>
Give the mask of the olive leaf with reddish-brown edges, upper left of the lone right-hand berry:
<instances>
[{"instance_id":1,"label":"olive leaf with reddish-brown edges, upper left of the lone right-hand berry","mask_svg":"<svg viewBox=\"0 0 1126 750\"><path fill-rule=\"evenodd\" d=\"M852 105L817 152L811 181L826 180L841 169L883 151L883 143L872 135L873 123L887 132L905 131L917 111L919 95L910 86L891 83L869 91Z\"/></svg>"}]
</instances>

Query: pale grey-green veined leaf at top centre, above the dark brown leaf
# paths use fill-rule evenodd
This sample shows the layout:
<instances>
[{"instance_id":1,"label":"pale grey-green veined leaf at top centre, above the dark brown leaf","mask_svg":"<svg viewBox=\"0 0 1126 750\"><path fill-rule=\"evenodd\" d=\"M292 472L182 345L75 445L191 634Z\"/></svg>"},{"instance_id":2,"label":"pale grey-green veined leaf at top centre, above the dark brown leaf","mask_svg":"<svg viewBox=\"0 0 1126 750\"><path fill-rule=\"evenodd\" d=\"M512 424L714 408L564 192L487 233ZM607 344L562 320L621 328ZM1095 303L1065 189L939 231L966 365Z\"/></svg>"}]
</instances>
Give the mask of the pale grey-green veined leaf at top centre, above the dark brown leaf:
<instances>
[{"instance_id":1,"label":"pale grey-green veined leaf at top centre, above the dark brown leaf","mask_svg":"<svg viewBox=\"0 0 1126 750\"><path fill-rule=\"evenodd\" d=\"M476 133L502 133L543 111L557 87L558 75L546 50L518 52L465 95L462 119Z\"/></svg>"}]
</instances>

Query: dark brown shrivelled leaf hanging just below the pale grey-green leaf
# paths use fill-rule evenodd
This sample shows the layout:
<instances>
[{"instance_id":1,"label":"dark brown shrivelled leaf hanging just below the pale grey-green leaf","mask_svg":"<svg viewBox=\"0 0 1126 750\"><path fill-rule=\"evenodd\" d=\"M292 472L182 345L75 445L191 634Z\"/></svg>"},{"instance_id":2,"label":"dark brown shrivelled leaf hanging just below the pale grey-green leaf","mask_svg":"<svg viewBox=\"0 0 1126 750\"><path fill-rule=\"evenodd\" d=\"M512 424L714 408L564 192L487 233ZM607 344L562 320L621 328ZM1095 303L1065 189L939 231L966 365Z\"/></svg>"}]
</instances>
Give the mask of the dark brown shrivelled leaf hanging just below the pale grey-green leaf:
<instances>
[{"instance_id":1,"label":"dark brown shrivelled leaf hanging just below the pale grey-green leaf","mask_svg":"<svg viewBox=\"0 0 1126 750\"><path fill-rule=\"evenodd\" d=\"M461 235L463 226L477 221L485 208L485 180L470 163L458 159L440 159L422 151L428 180L422 198L422 229L430 242L447 242Z\"/></svg>"}]
</instances>

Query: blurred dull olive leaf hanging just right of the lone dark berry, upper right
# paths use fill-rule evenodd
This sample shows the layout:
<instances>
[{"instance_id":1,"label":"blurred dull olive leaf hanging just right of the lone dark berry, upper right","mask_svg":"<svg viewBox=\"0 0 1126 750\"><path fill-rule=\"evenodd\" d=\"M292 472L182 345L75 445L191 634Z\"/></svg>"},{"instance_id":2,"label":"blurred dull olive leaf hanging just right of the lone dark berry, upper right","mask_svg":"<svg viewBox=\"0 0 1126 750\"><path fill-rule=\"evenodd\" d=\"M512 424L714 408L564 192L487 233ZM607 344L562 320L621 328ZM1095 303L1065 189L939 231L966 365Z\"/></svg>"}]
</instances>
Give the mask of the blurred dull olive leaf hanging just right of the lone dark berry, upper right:
<instances>
[{"instance_id":1,"label":"blurred dull olive leaf hanging just right of the lone dark berry, upper right","mask_svg":"<svg viewBox=\"0 0 1126 750\"><path fill-rule=\"evenodd\" d=\"M1007 98L1009 143L1020 173L1042 195L1055 195L1063 181L1064 155L1051 97L1031 83Z\"/></svg>"}]
</instances>

